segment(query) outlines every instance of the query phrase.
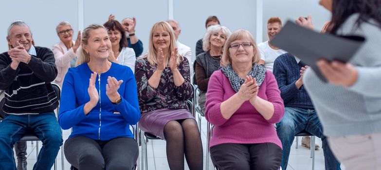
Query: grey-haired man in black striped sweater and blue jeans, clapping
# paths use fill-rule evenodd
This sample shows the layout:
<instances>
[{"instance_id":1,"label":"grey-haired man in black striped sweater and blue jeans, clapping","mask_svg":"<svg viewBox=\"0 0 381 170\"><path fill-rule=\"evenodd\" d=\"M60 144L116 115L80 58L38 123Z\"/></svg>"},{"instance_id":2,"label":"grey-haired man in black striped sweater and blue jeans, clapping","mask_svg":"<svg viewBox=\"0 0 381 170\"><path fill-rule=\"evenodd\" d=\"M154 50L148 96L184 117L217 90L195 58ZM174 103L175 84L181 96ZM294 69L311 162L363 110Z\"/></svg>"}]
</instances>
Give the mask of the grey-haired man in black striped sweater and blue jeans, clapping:
<instances>
[{"instance_id":1,"label":"grey-haired man in black striped sweater and blue jeans, clapping","mask_svg":"<svg viewBox=\"0 0 381 170\"><path fill-rule=\"evenodd\" d=\"M62 145L54 109L58 99L50 82L57 76L54 54L35 47L29 26L15 21L8 28L9 51L0 54L0 90L7 115L0 122L0 167L15 170L13 145L27 132L42 141L34 170L50 170Z\"/></svg>"}]
</instances>

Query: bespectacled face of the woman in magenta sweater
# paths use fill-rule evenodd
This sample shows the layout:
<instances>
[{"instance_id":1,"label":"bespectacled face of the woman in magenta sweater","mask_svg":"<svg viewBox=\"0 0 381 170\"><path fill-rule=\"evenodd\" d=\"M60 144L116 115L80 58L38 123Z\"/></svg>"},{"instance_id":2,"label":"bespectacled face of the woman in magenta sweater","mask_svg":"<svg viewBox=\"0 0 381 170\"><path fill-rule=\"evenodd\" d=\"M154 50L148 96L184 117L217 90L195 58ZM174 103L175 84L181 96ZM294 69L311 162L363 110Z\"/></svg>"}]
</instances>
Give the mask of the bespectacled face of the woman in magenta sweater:
<instances>
[{"instance_id":1,"label":"bespectacled face of the woman in magenta sweater","mask_svg":"<svg viewBox=\"0 0 381 170\"><path fill-rule=\"evenodd\" d=\"M243 38L243 39L237 39L233 41L232 44L242 44L245 42L251 42L249 38ZM254 47L243 47L240 45L237 49L229 48L229 54L232 60L232 64L239 64L239 63L252 63L253 57L254 57Z\"/></svg>"}]
</instances>

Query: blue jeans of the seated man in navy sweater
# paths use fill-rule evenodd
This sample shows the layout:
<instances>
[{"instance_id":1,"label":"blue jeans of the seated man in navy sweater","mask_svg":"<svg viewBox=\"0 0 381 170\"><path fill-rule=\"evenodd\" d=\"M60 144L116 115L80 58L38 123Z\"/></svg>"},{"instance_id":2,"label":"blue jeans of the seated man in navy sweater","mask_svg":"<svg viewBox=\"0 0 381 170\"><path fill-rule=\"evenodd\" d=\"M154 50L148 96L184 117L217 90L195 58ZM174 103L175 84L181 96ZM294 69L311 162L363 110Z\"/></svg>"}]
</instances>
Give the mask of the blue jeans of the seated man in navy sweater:
<instances>
[{"instance_id":1,"label":"blue jeans of the seated man in navy sweater","mask_svg":"<svg viewBox=\"0 0 381 170\"><path fill-rule=\"evenodd\" d=\"M287 168L290 148L295 134L303 130L322 139L326 170L341 170L339 161L335 158L328 146L327 137L323 136L323 126L320 123L316 111L297 107L285 107L285 114L282 120L276 124L276 133L283 147L282 170L286 170Z\"/></svg>"}]
</instances>

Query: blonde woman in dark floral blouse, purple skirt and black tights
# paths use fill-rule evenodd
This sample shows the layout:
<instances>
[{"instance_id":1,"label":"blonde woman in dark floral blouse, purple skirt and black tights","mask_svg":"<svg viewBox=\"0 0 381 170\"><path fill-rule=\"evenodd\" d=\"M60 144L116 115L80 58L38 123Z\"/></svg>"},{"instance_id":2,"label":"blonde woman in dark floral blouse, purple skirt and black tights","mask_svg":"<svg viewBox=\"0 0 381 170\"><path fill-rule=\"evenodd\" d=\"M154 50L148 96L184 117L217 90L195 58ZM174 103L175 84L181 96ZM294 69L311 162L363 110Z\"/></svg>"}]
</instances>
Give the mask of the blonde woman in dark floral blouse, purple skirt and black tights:
<instances>
[{"instance_id":1,"label":"blonde woman in dark floral blouse, purple skirt and black tights","mask_svg":"<svg viewBox=\"0 0 381 170\"><path fill-rule=\"evenodd\" d=\"M177 53L175 33L167 22L155 23L148 53L136 60L135 78L142 117L139 128L166 140L171 170L202 170L197 122L185 103L192 98L189 62Z\"/></svg>"}]
</instances>

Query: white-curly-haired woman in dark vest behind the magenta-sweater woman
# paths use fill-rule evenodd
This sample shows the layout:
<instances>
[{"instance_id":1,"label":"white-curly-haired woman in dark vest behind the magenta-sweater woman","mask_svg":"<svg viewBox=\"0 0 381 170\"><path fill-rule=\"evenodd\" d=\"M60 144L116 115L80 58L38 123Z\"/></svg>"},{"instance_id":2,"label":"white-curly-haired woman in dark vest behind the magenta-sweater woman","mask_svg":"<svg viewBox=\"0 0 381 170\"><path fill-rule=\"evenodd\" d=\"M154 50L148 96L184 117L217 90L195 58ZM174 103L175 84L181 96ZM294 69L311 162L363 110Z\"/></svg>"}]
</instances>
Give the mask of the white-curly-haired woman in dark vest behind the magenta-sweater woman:
<instances>
[{"instance_id":1,"label":"white-curly-haired woman in dark vest behind the magenta-sweater woman","mask_svg":"<svg viewBox=\"0 0 381 170\"><path fill-rule=\"evenodd\" d=\"M196 57L194 66L196 84L201 91L198 102L202 114L205 113L205 94L209 78L221 65L222 48L230 34L230 30L225 26L213 25L208 27L202 38L203 50L206 52L202 52Z\"/></svg>"}]
</instances>

